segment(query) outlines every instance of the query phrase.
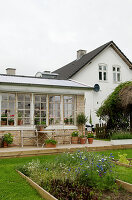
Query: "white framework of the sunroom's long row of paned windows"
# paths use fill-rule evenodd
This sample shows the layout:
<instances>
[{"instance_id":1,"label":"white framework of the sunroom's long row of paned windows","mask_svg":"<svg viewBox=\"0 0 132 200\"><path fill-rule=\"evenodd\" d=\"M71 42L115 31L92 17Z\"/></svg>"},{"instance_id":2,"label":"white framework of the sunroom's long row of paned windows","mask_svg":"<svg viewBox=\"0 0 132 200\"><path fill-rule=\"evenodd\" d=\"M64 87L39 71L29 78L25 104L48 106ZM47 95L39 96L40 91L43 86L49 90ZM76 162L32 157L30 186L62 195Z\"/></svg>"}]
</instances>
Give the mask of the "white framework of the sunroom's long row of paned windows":
<instances>
[{"instance_id":1,"label":"white framework of the sunroom's long row of paned windows","mask_svg":"<svg viewBox=\"0 0 132 200\"><path fill-rule=\"evenodd\" d=\"M2 125L1 126L1 123L0 123L0 129L1 130L4 130L4 129L9 129L9 128L11 128L10 130L16 130L16 128L17 128L17 130L21 130L21 129L23 129L23 128L28 128L29 127L29 129L31 128L31 127L34 127L34 119L35 119L35 116L34 116L34 114L35 114L35 107L34 107L34 103L35 103L35 95L45 95L46 96L46 125L47 126L49 126L50 127L50 123L49 123L49 104L50 104L50 102L49 102L49 97L50 96L59 96L60 97L60 101L58 102L59 104L60 104L60 117L59 117L59 123L53 123L53 125L57 125L58 127L59 127L59 125L61 125L61 126L63 126L63 128L64 128L64 126L66 125L65 123L64 123L64 96L72 96L73 98L74 98L74 102L73 102L73 104L74 104L74 108L73 108L73 116L72 116L72 118L73 118L73 123L68 123L67 125L68 125L68 128L72 128L72 127L74 127L74 126L76 126L76 109L77 109L77 107L76 107L76 97L77 97L77 95L70 95L70 94L45 94L45 93L16 93L16 92L2 92L2 93L0 93L0 119L1 119L1 101L2 101L2 99L1 99L1 97L2 97L2 94L14 94L15 95L15 110L14 110L14 125L10 125L10 126L8 126L8 124L7 125ZM30 123L29 124L24 124L24 123L22 123L22 124L18 124L18 118L19 118L19 116L18 116L18 112L19 112L19 110L21 110L21 108L19 107L19 109L18 109L18 102L20 102L20 100L18 101L18 95L29 95L30 96L30 118L29 118L29 121L30 121ZM25 97L24 97L24 99L25 99ZM25 109L25 107L23 108L23 109ZM22 109L22 110L23 110ZM28 118L28 117L26 117L26 118ZM24 118L23 118L24 119ZM22 119L22 120L23 120ZM0 120L1 121L1 120ZM13 128L14 127L14 128ZM22 127L22 128L21 128ZM55 126L56 127L56 126Z\"/></svg>"}]
</instances>

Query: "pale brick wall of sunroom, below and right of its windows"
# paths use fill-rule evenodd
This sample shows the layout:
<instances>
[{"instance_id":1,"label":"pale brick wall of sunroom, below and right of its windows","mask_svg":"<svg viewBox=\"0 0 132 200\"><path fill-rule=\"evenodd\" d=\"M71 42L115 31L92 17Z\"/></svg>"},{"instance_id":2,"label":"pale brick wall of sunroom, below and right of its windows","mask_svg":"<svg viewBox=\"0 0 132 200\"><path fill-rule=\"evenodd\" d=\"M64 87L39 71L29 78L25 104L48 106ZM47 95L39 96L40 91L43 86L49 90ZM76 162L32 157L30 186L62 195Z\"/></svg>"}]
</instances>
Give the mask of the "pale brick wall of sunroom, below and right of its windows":
<instances>
[{"instance_id":1,"label":"pale brick wall of sunroom, below and right of its windows","mask_svg":"<svg viewBox=\"0 0 132 200\"><path fill-rule=\"evenodd\" d=\"M85 111L85 103L84 103L84 95L77 95L76 97L76 111L75 115L82 113ZM70 143L71 142L71 133L75 130L78 130L76 125L54 125L48 126L46 128L49 132L54 129L55 133L53 134L53 138L58 141L59 144ZM33 125L30 126L22 126L22 127L0 127L0 137L2 137L5 133L11 133L13 135L13 144L12 146L21 146L21 131L23 131L24 137L33 136L35 134L35 127ZM44 143L44 139L46 137L42 137L39 143L42 145ZM24 138L24 145L31 146L36 145L35 140L30 138Z\"/></svg>"}]
</instances>

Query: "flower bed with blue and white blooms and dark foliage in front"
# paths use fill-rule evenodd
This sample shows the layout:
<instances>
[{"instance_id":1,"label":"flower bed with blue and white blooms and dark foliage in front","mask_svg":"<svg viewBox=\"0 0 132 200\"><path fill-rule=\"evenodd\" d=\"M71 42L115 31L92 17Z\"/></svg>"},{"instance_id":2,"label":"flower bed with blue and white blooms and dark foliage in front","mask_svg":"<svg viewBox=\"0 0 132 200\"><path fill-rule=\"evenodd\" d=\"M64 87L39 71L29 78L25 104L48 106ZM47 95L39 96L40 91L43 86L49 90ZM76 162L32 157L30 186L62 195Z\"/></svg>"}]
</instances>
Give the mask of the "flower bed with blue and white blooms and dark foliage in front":
<instances>
[{"instance_id":1,"label":"flower bed with blue and white blooms and dark foliage in front","mask_svg":"<svg viewBox=\"0 0 132 200\"><path fill-rule=\"evenodd\" d=\"M96 200L98 191L117 188L112 160L112 154L78 151L59 155L54 162L44 165L39 160L32 161L19 170L59 200Z\"/></svg>"}]
</instances>

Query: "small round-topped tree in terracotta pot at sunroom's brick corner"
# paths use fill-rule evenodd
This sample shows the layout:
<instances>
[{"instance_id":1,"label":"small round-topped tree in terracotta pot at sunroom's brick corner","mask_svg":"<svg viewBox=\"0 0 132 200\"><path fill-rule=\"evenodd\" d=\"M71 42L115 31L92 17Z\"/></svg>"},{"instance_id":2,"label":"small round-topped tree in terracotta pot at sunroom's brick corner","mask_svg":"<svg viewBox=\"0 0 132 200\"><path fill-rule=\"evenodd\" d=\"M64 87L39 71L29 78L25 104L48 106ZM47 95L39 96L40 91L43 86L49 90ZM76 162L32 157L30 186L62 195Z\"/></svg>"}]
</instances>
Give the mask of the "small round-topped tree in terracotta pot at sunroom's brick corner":
<instances>
[{"instance_id":1,"label":"small round-topped tree in terracotta pot at sunroom's brick corner","mask_svg":"<svg viewBox=\"0 0 132 200\"><path fill-rule=\"evenodd\" d=\"M84 130L84 125L87 122L87 120L88 120L88 118L85 116L84 113L78 114L78 116L77 116L77 124L82 127L82 136L80 138L80 143L81 144L85 144L86 143L86 137L85 137L85 134L84 134L83 130Z\"/></svg>"}]
</instances>

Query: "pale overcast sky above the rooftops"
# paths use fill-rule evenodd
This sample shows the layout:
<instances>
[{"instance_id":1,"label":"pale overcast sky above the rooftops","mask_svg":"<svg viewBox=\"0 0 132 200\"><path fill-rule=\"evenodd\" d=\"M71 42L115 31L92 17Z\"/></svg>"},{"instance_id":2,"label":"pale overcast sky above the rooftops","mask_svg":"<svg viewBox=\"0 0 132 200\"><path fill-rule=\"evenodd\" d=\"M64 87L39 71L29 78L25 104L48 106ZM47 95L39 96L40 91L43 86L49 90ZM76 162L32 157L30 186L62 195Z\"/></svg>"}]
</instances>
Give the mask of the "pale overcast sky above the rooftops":
<instances>
[{"instance_id":1,"label":"pale overcast sky above the rooftops","mask_svg":"<svg viewBox=\"0 0 132 200\"><path fill-rule=\"evenodd\" d=\"M132 61L132 0L0 0L0 73L53 71L111 40Z\"/></svg>"}]
</instances>

